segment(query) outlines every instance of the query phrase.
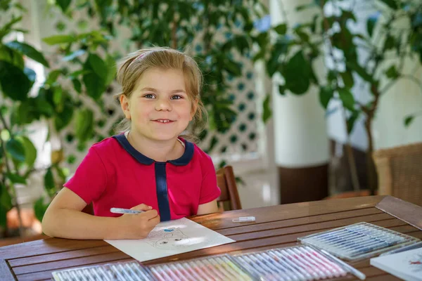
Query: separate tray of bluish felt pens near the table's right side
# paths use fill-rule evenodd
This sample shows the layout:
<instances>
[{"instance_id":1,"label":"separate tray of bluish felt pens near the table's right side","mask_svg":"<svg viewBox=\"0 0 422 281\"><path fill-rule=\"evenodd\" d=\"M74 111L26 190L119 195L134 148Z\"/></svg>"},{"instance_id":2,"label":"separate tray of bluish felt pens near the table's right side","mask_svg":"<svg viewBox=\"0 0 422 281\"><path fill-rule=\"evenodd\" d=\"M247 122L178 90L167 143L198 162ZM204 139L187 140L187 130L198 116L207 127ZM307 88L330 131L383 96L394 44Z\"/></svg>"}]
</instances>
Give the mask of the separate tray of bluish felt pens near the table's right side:
<instances>
[{"instance_id":1,"label":"separate tray of bluish felt pens near the table's right side","mask_svg":"<svg viewBox=\"0 0 422 281\"><path fill-rule=\"evenodd\" d=\"M354 223L299 237L302 244L324 249L346 261L358 261L419 242L415 237L371 223Z\"/></svg>"}]
</instances>

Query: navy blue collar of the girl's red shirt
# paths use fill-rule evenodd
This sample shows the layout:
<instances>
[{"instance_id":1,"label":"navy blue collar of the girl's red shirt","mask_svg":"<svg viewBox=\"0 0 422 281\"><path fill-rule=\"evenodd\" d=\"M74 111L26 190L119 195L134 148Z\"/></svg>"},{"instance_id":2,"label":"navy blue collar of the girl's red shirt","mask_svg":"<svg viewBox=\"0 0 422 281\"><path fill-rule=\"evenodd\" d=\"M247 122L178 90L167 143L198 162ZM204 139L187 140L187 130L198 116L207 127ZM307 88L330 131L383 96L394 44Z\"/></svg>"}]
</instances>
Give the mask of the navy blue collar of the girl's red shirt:
<instances>
[{"instance_id":1,"label":"navy blue collar of the girl's red shirt","mask_svg":"<svg viewBox=\"0 0 422 281\"><path fill-rule=\"evenodd\" d=\"M139 163L144 164L144 165L151 165L154 162L156 162L154 159L146 157L141 152L136 150L129 143L129 141L127 141L127 138L126 136L124 136L124 133L121 133L117 136L113 136L113 138L115 138L120 143L120 145L122 145L122 148L124 148L124 150L129 152L129 154L132 155L132 157L134 157L136 161L138 161ZM191 159L193 157L193 150L194 150L193 143L186 140L183 140L183 141L185 143L185 151L183 155L181 155L181 157L178 159L167 161L168 163L174 164L176 166L184 166L184 165L189 164L189 162L191 162ZM160 163L160 162L157 162L157 163Z\"/></svg>"}]
</instances>

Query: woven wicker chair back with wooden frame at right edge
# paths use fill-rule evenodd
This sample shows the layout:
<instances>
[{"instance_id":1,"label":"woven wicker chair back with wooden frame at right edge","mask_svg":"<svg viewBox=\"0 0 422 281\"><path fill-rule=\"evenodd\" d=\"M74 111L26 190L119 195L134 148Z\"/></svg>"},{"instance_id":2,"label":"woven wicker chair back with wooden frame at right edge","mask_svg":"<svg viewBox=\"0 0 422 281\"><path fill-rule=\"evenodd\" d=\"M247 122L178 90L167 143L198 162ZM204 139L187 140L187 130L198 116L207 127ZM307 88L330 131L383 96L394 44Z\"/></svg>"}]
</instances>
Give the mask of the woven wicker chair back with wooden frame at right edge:
<instances>
[{"instance_id":1,"label":"woven wicker chair back with wooden frame at right edge","mask_svg":"<svg viewBox=\"0 0 422 281\"><path fill-rule=\"evenodd\" d=\"M422 206L422 143L373 152L378 195L392 195Z\"/></svg>"}]
</instances>

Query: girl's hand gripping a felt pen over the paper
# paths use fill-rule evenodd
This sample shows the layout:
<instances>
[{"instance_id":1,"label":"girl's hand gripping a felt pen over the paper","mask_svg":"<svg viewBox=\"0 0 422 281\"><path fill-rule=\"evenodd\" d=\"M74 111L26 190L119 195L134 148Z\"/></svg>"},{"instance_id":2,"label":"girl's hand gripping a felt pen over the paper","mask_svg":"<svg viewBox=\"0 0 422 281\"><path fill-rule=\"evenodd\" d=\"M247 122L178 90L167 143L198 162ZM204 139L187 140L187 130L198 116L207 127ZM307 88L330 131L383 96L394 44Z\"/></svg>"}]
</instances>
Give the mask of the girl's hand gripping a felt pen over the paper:
<instances>
[{"instance_id":1,"label":"girl's hand gripping a felt pen over the paper","mask_svg":"<svg viewBox=\"0 0 422 281\"><path fill-rule=\"evenodd\" d=\"M151 206L139 204L131 209L143 212L140 214L124 214L117 218L120 228L117 239L143 239L160 223L158 212L153 210Z\"/></svg>"}]
</instances>

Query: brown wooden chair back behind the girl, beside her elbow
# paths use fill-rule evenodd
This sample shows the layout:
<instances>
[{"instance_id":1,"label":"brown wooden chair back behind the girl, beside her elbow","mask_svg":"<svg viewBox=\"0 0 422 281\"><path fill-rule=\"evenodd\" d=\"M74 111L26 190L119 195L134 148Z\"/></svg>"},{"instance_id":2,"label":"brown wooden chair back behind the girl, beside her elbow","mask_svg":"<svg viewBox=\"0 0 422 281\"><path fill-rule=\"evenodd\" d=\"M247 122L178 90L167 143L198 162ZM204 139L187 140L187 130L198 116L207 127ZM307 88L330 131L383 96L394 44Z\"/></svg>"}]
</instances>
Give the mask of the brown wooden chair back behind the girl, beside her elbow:
<instances>
[{"instance_id":1,"label":"brown wooden chair back behind the girl, beside her elbow","mask_svg":"<svg viewBox=\"0 0 422 281\"><path fill-rule=\"evenodd\" d=\"M222 190L222 194L217 199L220 211L242 209L232 166L217 170L217 185Z\"/></svg>"}]
</instances>

